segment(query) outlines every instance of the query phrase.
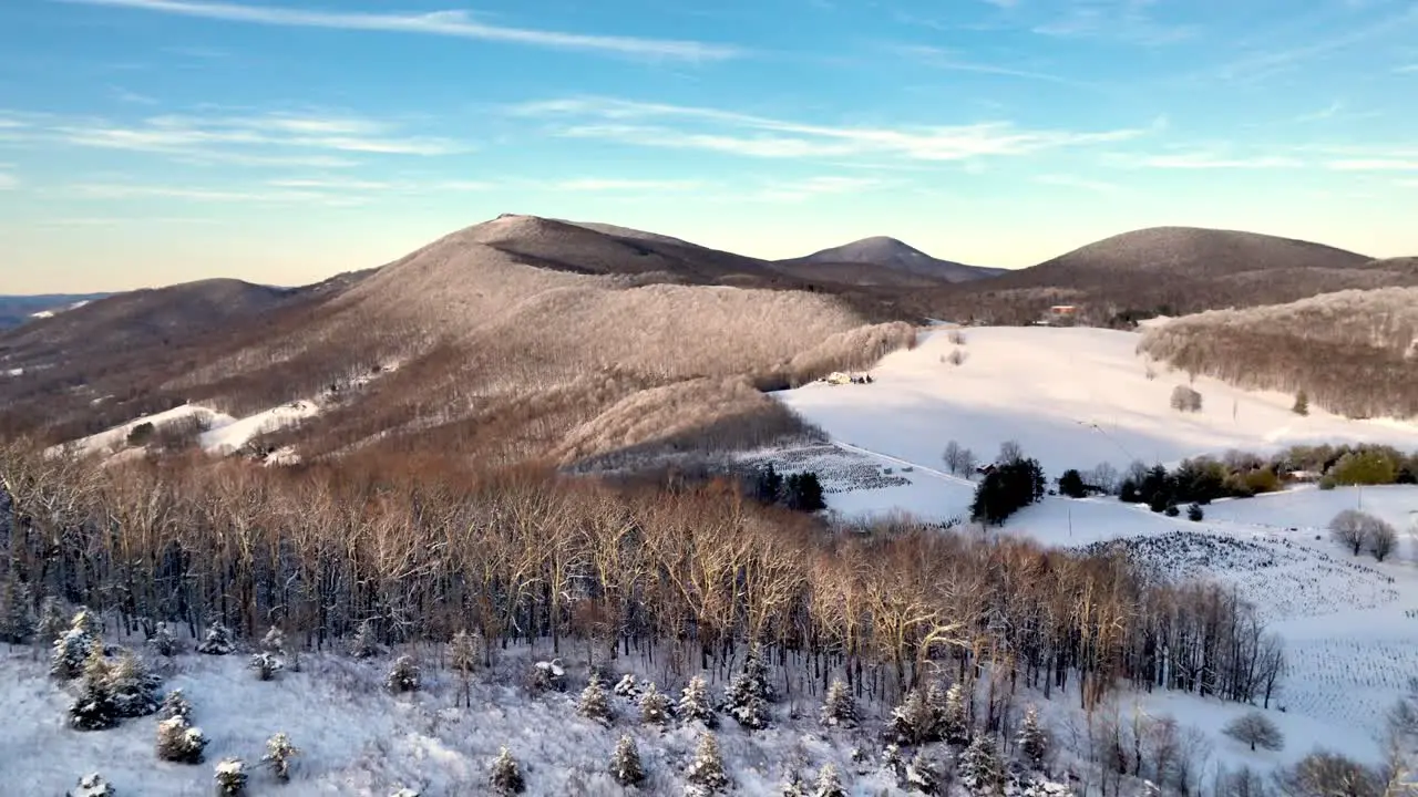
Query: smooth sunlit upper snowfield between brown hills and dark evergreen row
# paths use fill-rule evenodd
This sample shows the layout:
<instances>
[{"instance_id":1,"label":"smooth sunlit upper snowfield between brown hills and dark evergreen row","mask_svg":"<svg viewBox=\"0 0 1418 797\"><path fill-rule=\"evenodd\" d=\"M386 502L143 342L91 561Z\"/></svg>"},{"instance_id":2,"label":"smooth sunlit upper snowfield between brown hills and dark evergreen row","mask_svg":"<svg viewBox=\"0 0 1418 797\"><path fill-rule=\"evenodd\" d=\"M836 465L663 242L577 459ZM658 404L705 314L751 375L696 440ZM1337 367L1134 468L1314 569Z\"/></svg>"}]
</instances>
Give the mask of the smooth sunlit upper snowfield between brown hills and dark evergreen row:
<instances>
[{"instance_id":1,"label":"smooth sunlit upper snowfield between brown hills and dark evergreen row","mask_svg":"<svg viewBox=\"0 0 1418 797\"><path fill-rule=\"evenodd\" d=\"M813 383L774 396L841 442L940 467L950 440L994 458L1004 440L1056 476L1133 459L1174 462L1231 448L1263 454L1310 441L1388 442L1418 448L1418 425L1357 421L1313 408L1290 413L1293 396L1255 393L1201 377L1198 413L1170 406L1187 374L1149 366L1132 332L1085 328L973 328L966 345L949 332L920 336L871 370L872 384ZM954 349L964 363L950 364Z\"/></svg>"}]
</instances>

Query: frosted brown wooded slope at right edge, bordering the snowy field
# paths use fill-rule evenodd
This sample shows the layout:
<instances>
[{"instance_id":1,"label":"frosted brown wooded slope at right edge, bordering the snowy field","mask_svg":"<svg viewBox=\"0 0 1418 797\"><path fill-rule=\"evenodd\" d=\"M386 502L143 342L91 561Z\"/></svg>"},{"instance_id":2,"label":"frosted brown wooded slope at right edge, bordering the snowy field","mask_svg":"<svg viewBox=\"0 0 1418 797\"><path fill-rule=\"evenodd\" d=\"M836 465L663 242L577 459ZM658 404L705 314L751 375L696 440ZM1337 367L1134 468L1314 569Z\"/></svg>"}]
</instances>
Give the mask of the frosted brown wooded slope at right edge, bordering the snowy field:
<instances>
[{"instance_id":1,"label":"frosted brown wooded slope at right edge, bordering the snowy field","mask_svg":"<svg viewBox=\"0 0 1418 797\"><path fill-rule=\"evenodd\" d=\"M1147 329L1140 349L1249 389L1356 417L1418 416L1418 288L1341 291Z\"/></svg>"}]
</instances>

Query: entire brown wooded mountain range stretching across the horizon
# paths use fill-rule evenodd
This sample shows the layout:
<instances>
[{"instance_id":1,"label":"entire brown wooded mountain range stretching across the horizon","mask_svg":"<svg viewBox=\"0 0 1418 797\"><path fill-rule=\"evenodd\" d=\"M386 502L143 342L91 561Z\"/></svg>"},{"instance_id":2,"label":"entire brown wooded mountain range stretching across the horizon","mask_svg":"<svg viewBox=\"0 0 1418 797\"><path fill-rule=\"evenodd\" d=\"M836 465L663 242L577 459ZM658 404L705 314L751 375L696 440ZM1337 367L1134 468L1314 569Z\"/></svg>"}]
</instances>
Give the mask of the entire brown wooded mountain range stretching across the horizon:
<instances>
[{"instance_id":1,"label":"entire brown wooded mountain range stretching across the horizon","mask_svg":"<svg viewBox=\"0 0 1418 797\"><path fill-rule=\"evenodd\" d=\"M767 261L505 214L318 285L135 291L0 332L0 434L322 396L328 411L267 442L579 465L807 434L760 391L866 367L926 318L1027 323L1073 303L1106 325L1402 285L1412 258L1224 230L1139 230L1004 271L893 238Z\"/></svg>"}]
</instances>

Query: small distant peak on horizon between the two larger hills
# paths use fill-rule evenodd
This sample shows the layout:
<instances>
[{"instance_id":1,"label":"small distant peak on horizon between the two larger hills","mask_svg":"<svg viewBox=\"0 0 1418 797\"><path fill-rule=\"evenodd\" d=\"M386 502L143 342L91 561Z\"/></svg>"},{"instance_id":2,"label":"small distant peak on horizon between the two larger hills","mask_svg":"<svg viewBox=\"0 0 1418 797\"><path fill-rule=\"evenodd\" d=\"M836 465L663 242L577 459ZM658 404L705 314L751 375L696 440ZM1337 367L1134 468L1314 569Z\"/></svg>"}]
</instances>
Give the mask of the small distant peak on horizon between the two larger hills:
<instances>
[{"instance_id":1,"label":"small distant peak on horizon between the two larger hills","mask_svg":"<svg viewBox=\"0 0 1418 797\"><path fill-rule=\"evenodd\" d=\"M804 278L817 277L858 285L968 282L1005 271L933 258L896 238L886 237L862 238L807 257L777 261L777 265Z\"/></svg>"}]
</instances>

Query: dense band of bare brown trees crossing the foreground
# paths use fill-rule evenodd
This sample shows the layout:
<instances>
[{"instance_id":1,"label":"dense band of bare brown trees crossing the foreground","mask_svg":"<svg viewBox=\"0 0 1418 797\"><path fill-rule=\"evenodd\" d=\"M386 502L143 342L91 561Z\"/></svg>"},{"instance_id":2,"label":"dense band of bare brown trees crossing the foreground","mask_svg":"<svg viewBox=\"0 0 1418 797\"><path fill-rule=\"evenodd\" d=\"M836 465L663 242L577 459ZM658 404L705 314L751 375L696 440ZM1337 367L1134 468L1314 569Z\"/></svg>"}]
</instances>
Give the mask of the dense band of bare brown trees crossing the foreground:
<instances>
[{"instance_id":1,"label":"dense band of bare brown trees crossing the foreground","mask_svg":"<svg viewBox=\"0 0 1418 797\"><path fill-rule=\"evenodd\" d=\"M221 623L325 648L383 641L550 645L597 662L634 648L727 672L744 642L811 689L841 675L892 699L949 667L1096 703L1119 679L1232 699L1283 661L1215 586L1149 584L1116 554L934 529L828 535L727 481L613 489L450 461L352 457L339 468L241 461L99 467L0 448L3 576L199 635ZM786 671L784 671L786 672Z\"/></svg>"}]
</instances>

